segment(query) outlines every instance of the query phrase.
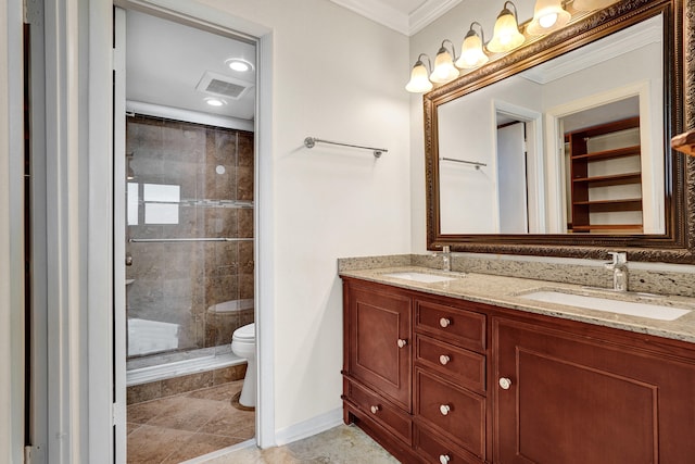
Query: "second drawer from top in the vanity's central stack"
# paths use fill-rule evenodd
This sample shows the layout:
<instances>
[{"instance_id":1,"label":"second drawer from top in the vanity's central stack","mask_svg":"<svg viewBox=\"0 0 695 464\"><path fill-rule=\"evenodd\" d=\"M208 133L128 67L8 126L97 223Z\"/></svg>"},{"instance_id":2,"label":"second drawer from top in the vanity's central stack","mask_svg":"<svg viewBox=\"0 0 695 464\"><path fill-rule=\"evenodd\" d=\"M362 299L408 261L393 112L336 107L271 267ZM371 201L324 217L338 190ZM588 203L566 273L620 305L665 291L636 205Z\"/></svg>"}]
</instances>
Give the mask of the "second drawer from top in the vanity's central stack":
<instances>
[{"instance_id":1,"label":"second drawer from top in the vanity's central stack","mask_svg":"<svg viewBox=\"0 0 695 464\"><path fill-rule=\"evenodd\" d=\"M415 336L415 356L422 367L435 369L457 385L485 391L485 356L435 340Z\"/></svg>"}]
</instances>

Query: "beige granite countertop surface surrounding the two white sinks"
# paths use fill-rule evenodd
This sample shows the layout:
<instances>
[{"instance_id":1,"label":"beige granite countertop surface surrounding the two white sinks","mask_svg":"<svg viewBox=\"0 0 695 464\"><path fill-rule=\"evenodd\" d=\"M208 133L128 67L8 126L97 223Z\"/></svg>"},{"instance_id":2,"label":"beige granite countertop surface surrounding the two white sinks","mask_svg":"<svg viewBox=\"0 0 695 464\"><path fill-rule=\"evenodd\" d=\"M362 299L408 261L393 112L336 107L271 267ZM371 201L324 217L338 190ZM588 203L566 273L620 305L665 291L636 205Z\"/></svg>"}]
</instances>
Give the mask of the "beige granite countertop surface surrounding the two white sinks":
<instances>
[{"instance_id":1,"label":"beige granite countertop surface surrounding the two white sinks","mask_svg":"<svg viewBox=\"0 0 695 464\"><path fill-rule=\"evenodd\" d=\"M439 283L420 283L384 274L416 272L438 276L455 277L454 280ZM426 293L440 294L493 304L502 308L519 310L529 313L544 314L553 317L580 321L606 327L614 327L639 334L649 334L658 337L683 340L695 343L695 298L650 296L648 293L612 292L608 289L592 289L580 285L551 283L518 277L504 277L488 274L464 274L443 272L429 267L399 266L381 267L361 271L341 271L341 277L354 277L379 284L387 284ZM622 301L636 301L665 306L691 310L692 312L674 319L659 321L606 311L585 310L558 303L541 302L521 298L532 291L555 290L570 294L583 294Z\"/></svg>"}]
</instances>

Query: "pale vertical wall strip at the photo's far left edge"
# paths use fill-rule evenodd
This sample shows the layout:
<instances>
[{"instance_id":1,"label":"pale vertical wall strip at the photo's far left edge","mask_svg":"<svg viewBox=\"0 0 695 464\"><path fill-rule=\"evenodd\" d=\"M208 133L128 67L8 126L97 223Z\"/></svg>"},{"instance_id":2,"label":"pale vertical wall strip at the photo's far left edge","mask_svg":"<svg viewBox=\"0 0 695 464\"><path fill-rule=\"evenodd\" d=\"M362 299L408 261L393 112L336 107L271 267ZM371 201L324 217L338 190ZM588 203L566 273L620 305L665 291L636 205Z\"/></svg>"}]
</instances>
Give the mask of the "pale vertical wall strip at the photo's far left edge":
<instances>
[{"instance_id":1,"label":"pale vertical wall strip at the photo's far left edge","mask_svg":"<svg viewBox=\"0 0 695 464\"><path fill-rule=\"evenodd\" d=\"M23 462L22 2L0 7L0 460Z\"/></svg>"}]
</instances>

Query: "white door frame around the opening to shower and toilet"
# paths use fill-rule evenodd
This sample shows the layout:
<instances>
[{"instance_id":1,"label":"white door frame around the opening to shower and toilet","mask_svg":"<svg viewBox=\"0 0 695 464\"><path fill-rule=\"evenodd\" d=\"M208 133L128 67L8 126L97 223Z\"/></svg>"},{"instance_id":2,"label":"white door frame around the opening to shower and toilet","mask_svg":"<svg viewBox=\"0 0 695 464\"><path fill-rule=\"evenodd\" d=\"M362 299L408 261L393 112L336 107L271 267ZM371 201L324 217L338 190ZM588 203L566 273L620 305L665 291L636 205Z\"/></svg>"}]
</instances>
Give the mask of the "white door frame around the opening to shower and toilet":
<instances>
[{"instance_id":1,"label":"white door frame around the opening to shower and toilet","mask_svg":"<svg viewBox=\"0 0 695 464\"><path fill-rule=\"evenodd\" d=\"M155 2L156 1L156 2ZM213 8L194 2L177 0L115 0L114 5L138 10L181 24L192 25L222 35L243 36L256 45L256 110L254 121L254 299L256 324L256 434L255 441L261 448L276 444L274 406L274 318L273 318L273 163L271 163L271 30L251 24L245 20L225 14ZM115 13L114 9L114 14ZM124 15L125 16L125 15ZM94 27L90 25L90 27ZM114 27L116 27L114 23ZM125 86L125 79L116 79L116 87ZM118 92L118 90L114 90ZM124 92L125 96L125 92ZM114 101L115 105L118 102ZM124 97L125 108L125 97ZM124 113L125 114L125 113ZM125 116L124 116L125 117ZM116 140L122 138L125 150L125 121L121 134L114 123L114 150ZM117 153L118 151L116 151ZM125 151L123 151L125 153ZM118 158L116 158L118 160ZM118 164L118 163L115 163ZM124 163L121 163L124 164ZM114 167L114 170L117 170ZM115 338L115 389L116 403L114 423L116 427L116 449L125 450L125 377L126 377L126 324L125 324L125 167L119 181L114 181L114 292L123 289L123 298L116 300L114 311ZM114 172L114 176L117 172ZM118 179L118 177L114 177ZM118 204L121 202L121 204ZM123 213L123 214L122 214ZM267 256L267 258L266 258ZM118 290L121 293L121 290Z\"/></svg>"}]
</instances>

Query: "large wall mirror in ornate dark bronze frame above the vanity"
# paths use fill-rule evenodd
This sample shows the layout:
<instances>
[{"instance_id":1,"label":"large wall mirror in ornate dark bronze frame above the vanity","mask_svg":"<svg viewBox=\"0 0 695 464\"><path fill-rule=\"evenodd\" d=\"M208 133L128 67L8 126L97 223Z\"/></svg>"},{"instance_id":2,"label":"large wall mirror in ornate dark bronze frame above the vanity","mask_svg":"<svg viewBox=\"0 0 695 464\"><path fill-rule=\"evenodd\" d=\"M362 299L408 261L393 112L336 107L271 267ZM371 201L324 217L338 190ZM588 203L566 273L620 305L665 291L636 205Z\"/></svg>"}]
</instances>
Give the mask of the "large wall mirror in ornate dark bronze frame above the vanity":
<instances>
[{"instance_id":1,"label":"large wall mirror in ornate dark bronze frame above the vanity","mask_svg":"<svg viewBox=\"0 0 695 464\"><path fill-rule=\"evenodd\" d=\"M427 93L428 248L693 261L685 13L619 2Z\"/></svg>"}]
</instances>

